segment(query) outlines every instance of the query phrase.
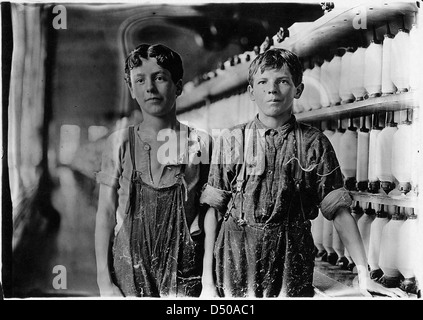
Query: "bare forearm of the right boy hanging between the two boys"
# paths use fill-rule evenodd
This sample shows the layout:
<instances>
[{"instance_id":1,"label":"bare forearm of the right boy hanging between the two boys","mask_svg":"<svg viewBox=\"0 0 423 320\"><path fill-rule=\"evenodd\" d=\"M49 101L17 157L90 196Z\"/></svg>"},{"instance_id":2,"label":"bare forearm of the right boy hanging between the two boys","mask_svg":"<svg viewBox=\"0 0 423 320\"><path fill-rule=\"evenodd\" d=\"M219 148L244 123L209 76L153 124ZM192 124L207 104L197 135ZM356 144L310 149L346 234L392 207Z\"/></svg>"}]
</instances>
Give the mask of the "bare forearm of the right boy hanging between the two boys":
<instances>
[{"instance_id":1,"label":"bare forearm of the right boy hanging between the two boys","mask_svg":"<svg viewBox=\"0 0 423 320\"><path fill-rule=\"evenodd\" d=\"M203 285L214 285L213 278L213 250L216 241L217 219L214 208L207 210L204 218L204 259L203 259Z\"/></svg>"}]
</instances>

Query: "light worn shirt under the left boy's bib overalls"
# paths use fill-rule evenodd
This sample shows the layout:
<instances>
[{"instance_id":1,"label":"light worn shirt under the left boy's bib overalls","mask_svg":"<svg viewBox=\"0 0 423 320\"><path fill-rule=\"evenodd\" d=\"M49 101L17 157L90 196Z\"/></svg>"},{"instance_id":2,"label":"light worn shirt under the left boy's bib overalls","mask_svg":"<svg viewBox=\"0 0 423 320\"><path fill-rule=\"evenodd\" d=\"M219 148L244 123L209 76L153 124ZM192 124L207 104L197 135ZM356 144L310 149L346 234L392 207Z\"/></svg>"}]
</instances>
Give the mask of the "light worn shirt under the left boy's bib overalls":
<instances>
[{"instance_id":1,"label":"light worn shirt under the left boy's bib overalls","mask_svg":"<svg viewBox=\"0 0 423 320\"><path fill-rule=\"evenodd\" d=\"M135 126L135 165L143 182L154 186L150 157L157 156L164 165L158 188L174 185L178 180L177 166L185 165L184 181L187 189L185 215L188 226L191 226L199 213L201 188L207 182L212 143L211 137L203 131L188 128L184 124L181 124L180 131L180 138L173 136L174 132L164 131L162 138L167 136L170 140L168 140L167 145L163 146L162 152L159 150L157 155L153 155L151 154L151 146L142 140L139 127ZM180 148L176 148L176 145L179 145ZM101 171L96 174L98 183L117 189L118 204L115 234L120 229L126 214L131 176L132 163L129 152L128 129L117 130L107 138L102 155ZM192 230L192 232L195 231L197 230Z\"/></svg>"}]
</instances>

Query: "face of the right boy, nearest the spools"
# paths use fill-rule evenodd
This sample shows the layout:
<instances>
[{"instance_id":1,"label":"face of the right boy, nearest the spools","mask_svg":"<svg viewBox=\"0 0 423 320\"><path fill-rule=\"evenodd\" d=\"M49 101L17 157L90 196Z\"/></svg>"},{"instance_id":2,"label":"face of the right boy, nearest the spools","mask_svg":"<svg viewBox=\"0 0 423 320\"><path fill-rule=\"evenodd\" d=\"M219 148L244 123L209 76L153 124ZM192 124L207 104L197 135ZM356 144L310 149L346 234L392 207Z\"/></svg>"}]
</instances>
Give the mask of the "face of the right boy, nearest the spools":
<instances>
[{"instance_id":1,"label":"face of the right boy, nearest the spools","mask_svg":"<svg viewBox=\"0 0 423 320\"><path fill-rule=\"evenodd\" d=\"M253 80L248 92L259 108L259 116L278 118L291 114L294 99L301 96L304 88L303 84L295 86L286 65L281 69L266 69L263 73L258 69Z\"/></svg>"}]
</instances>

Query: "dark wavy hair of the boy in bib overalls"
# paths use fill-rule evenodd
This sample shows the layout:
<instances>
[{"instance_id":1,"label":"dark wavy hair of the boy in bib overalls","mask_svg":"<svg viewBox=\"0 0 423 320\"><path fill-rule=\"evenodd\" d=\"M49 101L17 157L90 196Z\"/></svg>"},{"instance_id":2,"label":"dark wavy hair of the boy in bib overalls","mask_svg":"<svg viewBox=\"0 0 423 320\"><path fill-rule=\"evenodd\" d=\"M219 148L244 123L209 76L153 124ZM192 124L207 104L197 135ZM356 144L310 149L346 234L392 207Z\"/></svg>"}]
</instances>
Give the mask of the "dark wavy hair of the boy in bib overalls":
<instances>
[{"instance_id":1,"label":"dark wavy hair of the boy in bib overalls","mask_svg":"<svg viewBox=\"0 0 423 320\"><path fill-rule=\"evenodd\" d=\"M157 64L168 70L173 83L177 83L184 76L181 56L162 44L138 45L125 60L125 81L131 85L131 70L142 65L141 58L156 58Z\"/></svg>"}]
</instances>

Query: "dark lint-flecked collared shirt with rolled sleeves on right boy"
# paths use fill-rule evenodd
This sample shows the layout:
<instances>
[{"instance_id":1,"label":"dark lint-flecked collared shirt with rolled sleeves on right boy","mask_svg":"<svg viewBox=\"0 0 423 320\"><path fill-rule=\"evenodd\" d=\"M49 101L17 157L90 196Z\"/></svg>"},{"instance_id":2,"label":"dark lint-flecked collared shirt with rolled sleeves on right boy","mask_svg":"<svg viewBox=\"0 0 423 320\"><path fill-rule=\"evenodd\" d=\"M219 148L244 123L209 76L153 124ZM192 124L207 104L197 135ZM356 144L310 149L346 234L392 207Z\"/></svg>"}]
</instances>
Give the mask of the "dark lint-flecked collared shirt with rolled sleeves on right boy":
<instances>
[{"instance_id":1,"label":"dark lint-flecked collared shirt with rolled sleeves on right boy","mask_svg":"<svg viewBox=\"0 0 423 320\"><path fill-rule=\"evenodd\" d=\"M242 175L245 159L245 197L243 210L252 223L280 223L291 208L294 196L294 163L297 158L294 116L285 125L267 128L256 116L250 123L224 131L217 139L212 156L209 179L201 202L222 214L236 192L237 178ZM335 151L319 130L299 123L303 132L305 163L301 202L306 215L320 206L328 219L340 207L351 205L351 197L343 188L343 177ZM247 129L246 129L247 128ZM251 131L248 132L247 130ZM245 148L245 152L244 152ZM240 151L241 150L241 151ZM327 197L331 193L330 197ZM335 196L334 196L335 195ZM301 203L293 210L300 214ZM303 211L304 211L303 210Z\"/></svg>"}]
</instances>

